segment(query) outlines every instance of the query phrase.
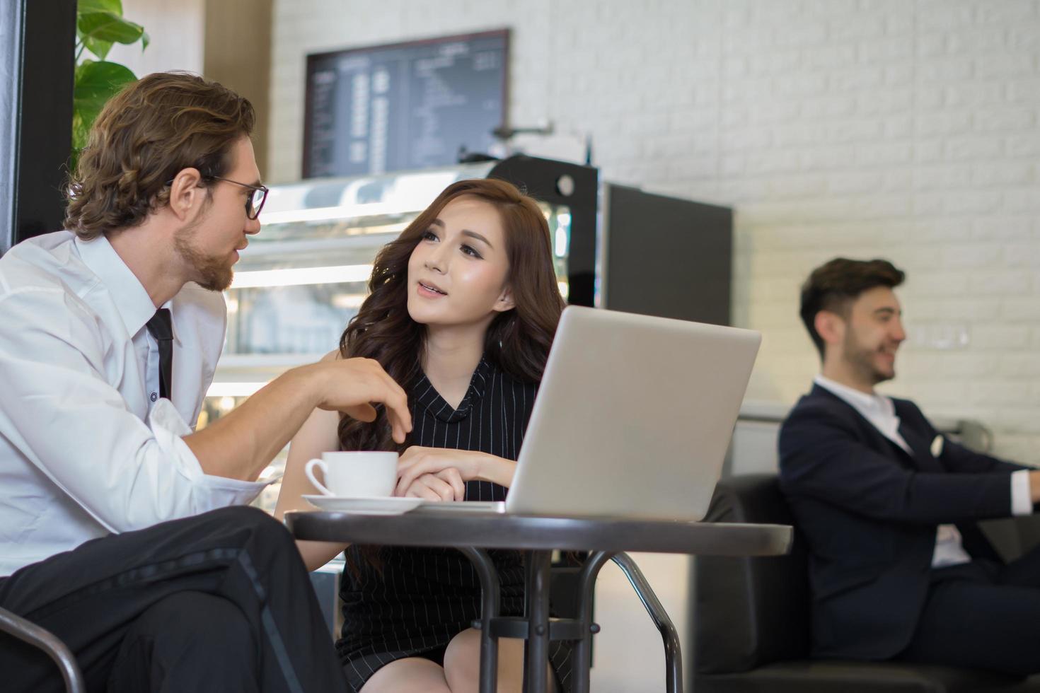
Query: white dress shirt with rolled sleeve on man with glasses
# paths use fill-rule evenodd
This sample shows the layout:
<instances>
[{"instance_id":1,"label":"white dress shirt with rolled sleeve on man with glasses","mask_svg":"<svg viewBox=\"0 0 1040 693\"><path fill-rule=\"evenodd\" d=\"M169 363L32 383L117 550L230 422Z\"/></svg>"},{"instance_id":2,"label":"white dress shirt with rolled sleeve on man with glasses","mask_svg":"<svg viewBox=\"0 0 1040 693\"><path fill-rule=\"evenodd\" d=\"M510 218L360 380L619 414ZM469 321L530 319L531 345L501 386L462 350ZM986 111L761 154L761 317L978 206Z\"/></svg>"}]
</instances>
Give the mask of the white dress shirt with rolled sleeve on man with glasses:
<instances>
[{"instance_id":1,"label":"white dress shirt with rolled sleeve on man with glasses","mask_svg":"<svg viewBox=\"0 0 1040 693\"><path fill-rule=\"evenodd\" d=\"M62 231L0 258L0 576L263 488L206 475L181 439L220 355L224 298L188 284L166 306L173 401L145 327L155 304L107 239Z\"/></svg>"}]
</instances>

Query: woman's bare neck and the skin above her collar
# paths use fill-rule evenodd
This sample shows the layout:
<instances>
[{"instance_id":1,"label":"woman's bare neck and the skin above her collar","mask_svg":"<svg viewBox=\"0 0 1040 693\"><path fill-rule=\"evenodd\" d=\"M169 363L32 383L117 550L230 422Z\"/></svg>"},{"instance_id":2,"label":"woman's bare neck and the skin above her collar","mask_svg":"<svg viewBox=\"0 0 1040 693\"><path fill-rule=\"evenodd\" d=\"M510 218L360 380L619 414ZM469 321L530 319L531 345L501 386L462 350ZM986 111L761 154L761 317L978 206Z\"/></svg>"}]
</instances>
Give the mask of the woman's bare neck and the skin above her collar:
<instances>
[{"instance_id":1,"label":"woman's bare neck and the skin above her collar","mask_svg":"<svg viewBox=\"0 0 1040 693\"><path fill-rule=\"evenodd\" d=\"M484 355L487 328L426 327L422 371L451 408L459 408Z\"/></svg>"}]
</instances>

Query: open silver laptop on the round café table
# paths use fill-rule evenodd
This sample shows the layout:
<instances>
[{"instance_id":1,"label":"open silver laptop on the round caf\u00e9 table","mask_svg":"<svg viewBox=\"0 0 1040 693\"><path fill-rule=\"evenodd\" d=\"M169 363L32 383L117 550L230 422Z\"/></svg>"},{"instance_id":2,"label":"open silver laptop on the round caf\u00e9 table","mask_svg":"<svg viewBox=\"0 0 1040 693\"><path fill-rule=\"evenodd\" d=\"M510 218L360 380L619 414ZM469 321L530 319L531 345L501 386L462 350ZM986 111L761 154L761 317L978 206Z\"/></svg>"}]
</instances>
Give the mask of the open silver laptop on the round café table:
<instances>
[{"instance_id":1,"label":"open silver laptop on the round caf\u00e9 table","mask_svg":"<svg viewBox=\"0 0 1040 693\"><path fill-rule=\"evenodd\" d=\"M756 331L564 311L505 512L699 521L758 353ZM420 510L501 510L435 503Z\"/></svg>"}]
</instances>

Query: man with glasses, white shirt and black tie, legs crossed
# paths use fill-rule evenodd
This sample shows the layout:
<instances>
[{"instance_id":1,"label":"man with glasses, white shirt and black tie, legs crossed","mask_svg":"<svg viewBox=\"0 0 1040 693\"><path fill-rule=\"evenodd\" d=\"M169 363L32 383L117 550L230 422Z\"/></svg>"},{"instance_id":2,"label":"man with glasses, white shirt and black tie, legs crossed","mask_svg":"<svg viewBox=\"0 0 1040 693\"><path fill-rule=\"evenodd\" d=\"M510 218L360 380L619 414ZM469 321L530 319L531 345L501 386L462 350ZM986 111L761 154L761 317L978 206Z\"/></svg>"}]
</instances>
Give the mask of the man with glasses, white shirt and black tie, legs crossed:
<instances>
[{"instance_id":1,"label":"man with glasses, white shirt and black tie, legs crossed","mask_svg":"<svg viewBox=\"0 0 1040 693\"><path fill-rule=\"evenodd\" d=\"M0 258L0 607L64 641L90 690L345 687L291 535L242 507L315 407L411 428L367 359L288 371L193 431L224 342L219 293L266 188L253 107L177 73L99 115L68 231ZM0 637L5 691L47 657Z\"/></svg>"}]
</instances>

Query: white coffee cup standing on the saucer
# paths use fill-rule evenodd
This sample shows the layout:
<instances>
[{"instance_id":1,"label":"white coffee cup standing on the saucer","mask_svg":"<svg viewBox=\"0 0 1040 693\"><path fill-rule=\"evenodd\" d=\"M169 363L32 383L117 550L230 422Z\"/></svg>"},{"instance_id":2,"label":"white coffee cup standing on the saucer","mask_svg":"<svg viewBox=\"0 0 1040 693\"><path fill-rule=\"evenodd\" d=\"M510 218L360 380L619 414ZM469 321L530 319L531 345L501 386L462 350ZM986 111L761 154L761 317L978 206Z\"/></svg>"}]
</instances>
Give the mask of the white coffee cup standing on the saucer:
<instances>
[{"instance_id":1,"label":"white coffee cup standing on the saucer","mask_svg":"<svg viewBox=\"0 0 1040 693\"><path fill-rule=\"evenodd\" d=\"M324 483L314 478L320 467ZM323 452L304 468L314 487L326 496L341 498L381 498L393 495L397 483L395 452Z\"/></svg>"}]
</instances>

